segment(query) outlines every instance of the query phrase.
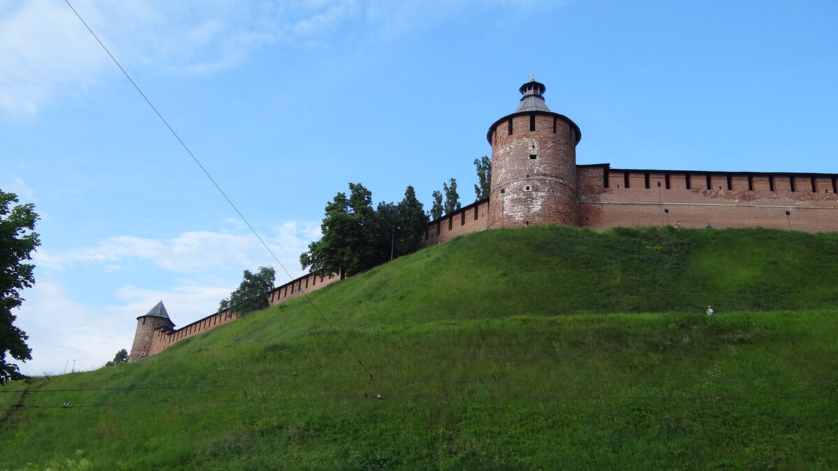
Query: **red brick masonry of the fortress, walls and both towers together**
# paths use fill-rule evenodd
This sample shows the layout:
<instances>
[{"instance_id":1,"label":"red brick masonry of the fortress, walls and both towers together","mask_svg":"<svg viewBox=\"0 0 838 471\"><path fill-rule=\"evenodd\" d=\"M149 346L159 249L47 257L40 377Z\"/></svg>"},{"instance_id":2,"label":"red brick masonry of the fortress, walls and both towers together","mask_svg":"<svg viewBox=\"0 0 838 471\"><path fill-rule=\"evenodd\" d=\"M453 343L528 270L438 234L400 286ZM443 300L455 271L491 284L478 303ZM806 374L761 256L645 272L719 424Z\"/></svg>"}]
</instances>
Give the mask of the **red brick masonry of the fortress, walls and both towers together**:
<instances>
[{"instance_id":1,"label":"red brick masonry of the fortress, walls and both towers together","mask_svg":"<svg viewBox=\"0 0 838 471\"><path fill-rule=\"evenodd\" d=\"M838 174L756 173L610 168L577 165L581 132L566 116L523 111L504 116L492 144L489 199L432 220L425 245L497 227L557 224L607 228L675 225L838 230ZM339 280L308 274L268 293L272 306ZM214 313L174 329L164 318L137 318L129 361L235 320Z\"/></svg>"}]
</instances>

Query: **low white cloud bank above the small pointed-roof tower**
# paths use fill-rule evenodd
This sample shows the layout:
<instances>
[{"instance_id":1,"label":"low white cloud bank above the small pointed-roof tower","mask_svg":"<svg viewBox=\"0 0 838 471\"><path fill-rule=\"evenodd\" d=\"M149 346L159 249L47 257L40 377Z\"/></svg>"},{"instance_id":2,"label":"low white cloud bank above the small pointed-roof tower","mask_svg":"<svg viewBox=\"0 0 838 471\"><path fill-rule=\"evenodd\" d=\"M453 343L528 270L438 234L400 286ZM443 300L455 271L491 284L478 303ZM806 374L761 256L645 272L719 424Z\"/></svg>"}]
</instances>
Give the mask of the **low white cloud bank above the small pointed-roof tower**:
<instances>
[{"instance_id":1,"label":"low white cloud bank above the small pointed-roof tower","mask_svg":"<svg viewBox=\"0 0 838 471\"><path fill-rule=\"evenodd\" d=\"M228 221L229 222L229 221ZM314 222L287 221L261 235L282 261L291 278L303 274L299 254L308 242L320 236ZM109 292L101 285L96 298L101 303L80 303L91 293L68 292L62 278L85 279L89 270L126 270L124 265L147 262L151 269L129 272L136 282L116 286ZM21 371L28 375L64 370L66 360L76 361L75 370L91 370L112 360L119 349L130 349L136 318L161 299L174 323L183 326L214 312L220 299L230 295L244 269L259 266L277 268L277 285L290 281L254 235L184 232L173 239L158 241L132 235L111 237L94 247L34 254L39 275L35 287L23 292L26 301L16 310L16 325L29 336L33 360ZM172 286L153 289L144 286L163 273L176 273ZM109 300L109 301L106 301ZM110 304L110 305L108 305Z\"/></svg>"}]
</instances>

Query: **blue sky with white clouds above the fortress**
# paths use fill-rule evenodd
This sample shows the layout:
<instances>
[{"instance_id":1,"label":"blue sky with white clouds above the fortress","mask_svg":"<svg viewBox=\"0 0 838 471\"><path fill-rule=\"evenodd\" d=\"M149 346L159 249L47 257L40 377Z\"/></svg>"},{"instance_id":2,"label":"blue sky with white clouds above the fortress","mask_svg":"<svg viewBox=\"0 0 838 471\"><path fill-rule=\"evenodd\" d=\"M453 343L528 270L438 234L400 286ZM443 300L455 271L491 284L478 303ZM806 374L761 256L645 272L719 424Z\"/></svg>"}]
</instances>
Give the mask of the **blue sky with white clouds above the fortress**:
<instances>
[{"instance_id":1,"label":"blue sky with white clouds above the fortress","mask_svg":"<svg viewBox=\"0 0 838 471\"><path fill-rule=\"evenodd\" d=\"M530 74L578 163L838 172L832 1L71 3L292 277L349 182L472 202ZM61 0L0 0L0 168L42 216L24 373L96 368L160 299L184 325L276 265Z\"/></svg>"}]
</instances>

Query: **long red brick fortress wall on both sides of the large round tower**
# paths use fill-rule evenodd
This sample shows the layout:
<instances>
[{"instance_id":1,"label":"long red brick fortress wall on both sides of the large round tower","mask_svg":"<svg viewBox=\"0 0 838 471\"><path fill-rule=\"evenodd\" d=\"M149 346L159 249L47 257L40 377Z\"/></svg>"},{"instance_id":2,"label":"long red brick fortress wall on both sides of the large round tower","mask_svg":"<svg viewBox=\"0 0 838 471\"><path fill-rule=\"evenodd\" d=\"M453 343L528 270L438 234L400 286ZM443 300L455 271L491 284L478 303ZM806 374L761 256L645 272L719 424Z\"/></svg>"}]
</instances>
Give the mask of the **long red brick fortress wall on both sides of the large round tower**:
<instances>
[{"instance_id":1,"label":"long red brick fortress wall on both sides of the large round tower","mask_svg":"<svg viewBox=\"0 0 838 471\"><path fill-rule=\"evenodd\" d=\"M710 223L719 229L789 229L790 223L794 230L838 231L836 184L838 175L830 173L684 172L615 169L607 163L579 165L578 225L594 228L675 225L680 220L683 227L704 227ZM433 246L458 235L485 230L488 221L489 199L468 204L432 220L425 231L425 245ZM268 300L275 306L338 280L335 275L308 274L274 288L268 293ZM155 318L141 319L132 361L157 354L180 340L236 318L232 313L214 313L181 329L171 329Z\"/></svg>"}]
</instances>

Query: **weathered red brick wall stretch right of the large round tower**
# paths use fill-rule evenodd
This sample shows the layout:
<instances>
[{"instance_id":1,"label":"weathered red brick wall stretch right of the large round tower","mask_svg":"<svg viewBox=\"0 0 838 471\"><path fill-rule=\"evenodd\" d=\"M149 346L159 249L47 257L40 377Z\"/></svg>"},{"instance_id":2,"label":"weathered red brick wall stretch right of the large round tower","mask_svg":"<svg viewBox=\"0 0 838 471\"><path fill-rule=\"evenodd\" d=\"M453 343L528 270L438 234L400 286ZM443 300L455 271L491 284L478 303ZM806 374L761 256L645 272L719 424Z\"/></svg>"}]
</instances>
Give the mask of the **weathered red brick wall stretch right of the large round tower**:
<instances>
[{"instance_id":1,"label":"weathered red brick wall stretch right of the large round tower","mask_svg":"<svg viewBox=\"0 0 838 471\"><path fill-rule=\"evenodd\" d=\"M809 232L838 230L835 175L645 172L606 165L578 169L583 226L675 225L680 220L684 227L789 229L790 225Z\"/></svg>"}]
</instances>

